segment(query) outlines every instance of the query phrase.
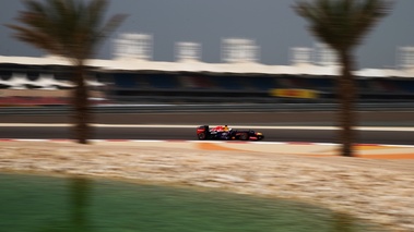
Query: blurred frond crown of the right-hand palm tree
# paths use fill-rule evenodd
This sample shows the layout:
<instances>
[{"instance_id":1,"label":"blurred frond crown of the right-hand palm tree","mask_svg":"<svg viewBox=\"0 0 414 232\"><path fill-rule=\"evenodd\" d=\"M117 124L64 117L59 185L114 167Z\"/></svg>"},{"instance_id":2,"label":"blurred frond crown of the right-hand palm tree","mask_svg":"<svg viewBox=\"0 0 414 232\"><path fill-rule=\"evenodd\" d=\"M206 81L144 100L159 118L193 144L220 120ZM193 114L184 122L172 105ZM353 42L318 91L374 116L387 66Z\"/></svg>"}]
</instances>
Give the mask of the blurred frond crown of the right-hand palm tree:
<instances>
[{"instance_id":1,"label":"blurred frond crown of the right-hand palm tree","mask_svg":"<svg viewBox=\"0 0 414 232\"><path fill-rule=\"evenodd\" d=\"M294 9L324 44L354 48L387 15L389 7L387 0L315 0L299 1Z\"/></svg>"}]
</instances>

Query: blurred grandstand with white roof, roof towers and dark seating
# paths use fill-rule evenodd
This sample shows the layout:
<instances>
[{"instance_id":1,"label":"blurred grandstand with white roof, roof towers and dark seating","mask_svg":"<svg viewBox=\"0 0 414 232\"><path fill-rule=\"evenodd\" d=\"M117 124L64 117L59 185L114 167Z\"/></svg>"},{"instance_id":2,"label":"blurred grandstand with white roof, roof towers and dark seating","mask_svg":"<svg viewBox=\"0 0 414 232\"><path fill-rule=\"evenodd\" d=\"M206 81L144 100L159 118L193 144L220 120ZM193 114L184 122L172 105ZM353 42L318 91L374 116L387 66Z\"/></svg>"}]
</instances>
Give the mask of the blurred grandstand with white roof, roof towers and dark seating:
<instances>
[{"instance_id":1,"label":"blurred grandstand with white roof, roof towers and dark seating","mask_svg":"<svg viewBox=\"0 0 414 232\"><path fill-rule=\"evenodd\" d=\"M202 46L175 45L176 61L152 60L152 36L122 34L113 60L87 61L94 98L111 102L326 102L336 99L341 66L323 45L291 48L291 65L259 62L255 40L222 40L222 62L202 61ZM354 71L362 101L414 101L414 49L398 49L395 69ZM60 99L73 88L71 66L59 57L0 56L0 103Z\"/></svg>"}]
</instances>

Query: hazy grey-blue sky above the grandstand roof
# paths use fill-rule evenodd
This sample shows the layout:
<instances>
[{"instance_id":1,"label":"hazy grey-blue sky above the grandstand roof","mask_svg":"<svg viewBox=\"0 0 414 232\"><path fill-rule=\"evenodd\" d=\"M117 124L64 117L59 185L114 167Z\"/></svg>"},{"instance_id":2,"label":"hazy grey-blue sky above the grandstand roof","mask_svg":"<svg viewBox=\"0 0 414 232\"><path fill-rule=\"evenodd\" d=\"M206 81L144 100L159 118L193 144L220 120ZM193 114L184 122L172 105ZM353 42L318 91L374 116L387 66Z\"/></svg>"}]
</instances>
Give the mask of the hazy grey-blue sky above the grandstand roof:
<instances>
[{"instance_id":1,"label":"hazy grey-blue sky above the grandstand roof","mask_svg":"<svg viewBox=\"0 0 414 232\"><path fill-rule=\"evenodd\" d=\"M316 39L307 23L293 10L294 0L110 0L108 14L128 19L103 44L97 58L111 59L111 39L119 33L153 36L153 60L174 61L178 41L202 45L204 62L221 62L223 38L256 40L259 62L289 64L291 47L312 47ZM15 23L22 10L17 0L0 1L0 56L43 56L44 52L15 40L3 24ZM397 48L414 46L414 0L395 0L392 12L368 34L357 50L360 68L392 68Z\"/></svg>"}]
</instances>

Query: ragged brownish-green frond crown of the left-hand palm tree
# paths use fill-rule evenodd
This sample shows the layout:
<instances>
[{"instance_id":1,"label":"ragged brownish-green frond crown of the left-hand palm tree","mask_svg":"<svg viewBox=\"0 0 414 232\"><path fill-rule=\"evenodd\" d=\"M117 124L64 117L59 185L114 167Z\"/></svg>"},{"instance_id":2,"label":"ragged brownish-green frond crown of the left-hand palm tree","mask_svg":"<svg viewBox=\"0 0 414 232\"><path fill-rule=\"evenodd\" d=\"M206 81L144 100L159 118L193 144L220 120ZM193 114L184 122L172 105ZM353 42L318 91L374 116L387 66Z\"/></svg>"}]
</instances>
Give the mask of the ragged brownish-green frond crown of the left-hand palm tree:
<instances>
[{"instance_id":1,"label":"ragged brownish-green frond crown of the left-hand palm tree","mask_svg":"<svg viewBox=\"0 0 414 232\"><path fill-rule=\"evenodd\" d=\"M22 25L7 25L14 37L47 52L71 60L94 56L97 46L126 16L105 22L106 0L27 0L16 19Z\"/></svg>"}]
</instances>

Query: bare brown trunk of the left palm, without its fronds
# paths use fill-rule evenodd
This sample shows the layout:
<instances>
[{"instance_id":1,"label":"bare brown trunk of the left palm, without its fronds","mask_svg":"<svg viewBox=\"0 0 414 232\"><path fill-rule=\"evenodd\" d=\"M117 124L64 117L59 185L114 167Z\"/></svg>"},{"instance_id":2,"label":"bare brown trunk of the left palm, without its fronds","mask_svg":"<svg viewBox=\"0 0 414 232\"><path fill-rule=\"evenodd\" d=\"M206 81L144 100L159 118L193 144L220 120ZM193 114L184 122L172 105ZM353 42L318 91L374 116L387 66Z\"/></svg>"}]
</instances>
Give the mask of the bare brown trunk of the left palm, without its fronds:
<instances>
[{"instance_id":1,"label":"bare brown trunk of the left palm, without its fronds","mask_svg":"<svg viewBox=\"0 0 414 232\"><path fill-rule=\"evenodd\" d=\"M87 88L84 78L84 66L82 64L75 68L75 89L73 91L74 107L74 139L79 144L87 144L91 135L88 123L91 122L91 113L88 106Z\"/></svg>"}]
</instances>

